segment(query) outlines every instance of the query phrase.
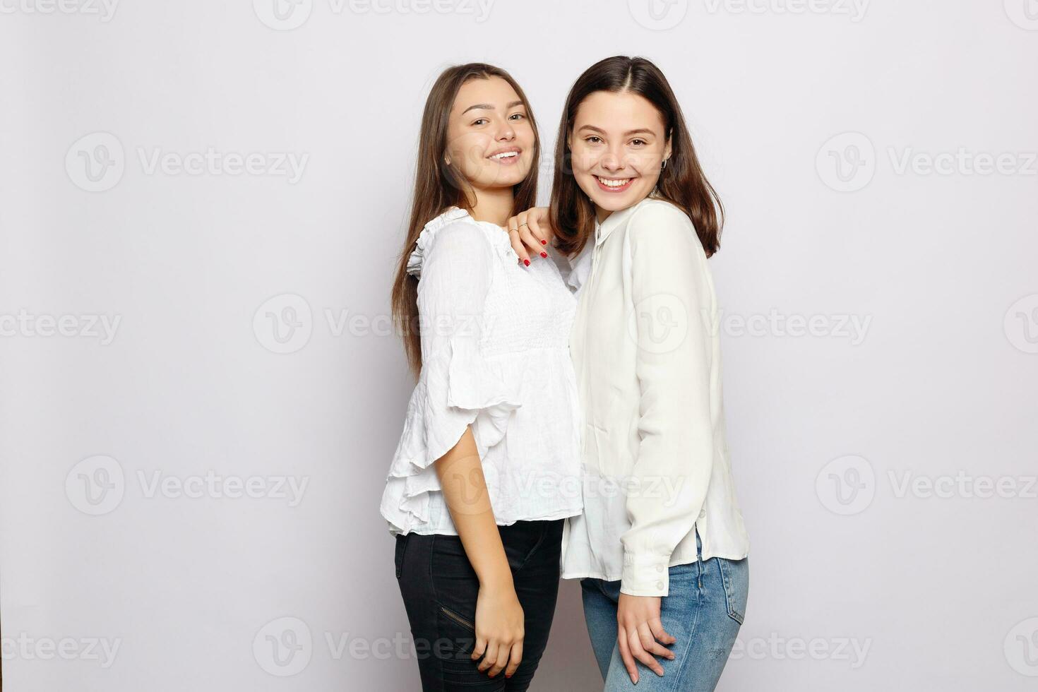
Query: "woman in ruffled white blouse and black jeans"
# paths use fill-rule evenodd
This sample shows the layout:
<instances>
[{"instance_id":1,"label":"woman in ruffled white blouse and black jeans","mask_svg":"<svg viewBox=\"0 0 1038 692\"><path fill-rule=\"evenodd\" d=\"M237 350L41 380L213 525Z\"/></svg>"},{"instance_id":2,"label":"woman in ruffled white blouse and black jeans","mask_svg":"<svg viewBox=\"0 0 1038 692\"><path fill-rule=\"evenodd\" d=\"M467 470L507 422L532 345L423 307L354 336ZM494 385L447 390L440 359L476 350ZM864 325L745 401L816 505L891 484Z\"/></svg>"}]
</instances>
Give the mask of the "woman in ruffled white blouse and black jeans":
<instances>
[{"instance_id":1,"label":"woman in ruffled white blouse and black jeans","mask_svg":"<svg viewBox=\"0 0 1038 692\"><path fill-rule=\"evenodd\" d=\"M467 64L433 85L392 293L417 384L381 502L425 690L528 688L582 507L576 299L506 226L534 203L539 154L508 73Z\"/></svg>"}]
</instances>

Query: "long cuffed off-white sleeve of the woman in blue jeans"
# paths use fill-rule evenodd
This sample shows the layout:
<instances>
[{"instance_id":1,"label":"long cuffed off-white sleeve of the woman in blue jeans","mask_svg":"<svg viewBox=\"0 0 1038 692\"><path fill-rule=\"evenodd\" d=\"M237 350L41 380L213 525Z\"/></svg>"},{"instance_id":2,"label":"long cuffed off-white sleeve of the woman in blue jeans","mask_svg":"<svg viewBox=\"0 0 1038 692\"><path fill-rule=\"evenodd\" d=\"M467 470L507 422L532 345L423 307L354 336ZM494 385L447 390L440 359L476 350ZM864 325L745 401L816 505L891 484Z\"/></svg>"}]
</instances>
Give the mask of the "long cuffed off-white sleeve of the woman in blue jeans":
<instances>
[{"instance_id":1,"label":"long cuffed off-white sleeve of the woman in blue jeans","mask_svg":"<svg viewBox=\"0 0 1038 692\"><path fill-rule=\"evenodd\" d=\"M670 204L648 204L630 221L640 439L621 536L621 591L666 596L677 545L692 530L713 467L710 348L714 296L691 221ZM648 492L659 489L659 493ZM640 492L638 492L640 491Z\"/></svg>"}]
</instances>

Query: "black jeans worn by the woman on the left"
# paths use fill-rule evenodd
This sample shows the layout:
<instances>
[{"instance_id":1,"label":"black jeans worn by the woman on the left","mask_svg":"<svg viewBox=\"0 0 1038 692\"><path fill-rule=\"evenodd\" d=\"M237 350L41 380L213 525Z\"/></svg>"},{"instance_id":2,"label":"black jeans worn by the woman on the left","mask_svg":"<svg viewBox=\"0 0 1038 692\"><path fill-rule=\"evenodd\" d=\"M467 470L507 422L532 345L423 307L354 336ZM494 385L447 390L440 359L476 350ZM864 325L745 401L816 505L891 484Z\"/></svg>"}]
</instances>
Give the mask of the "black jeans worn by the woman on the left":
<instances>
[{"instance_id":1,"label":"black jeans worn by the woman on the left","mask_svg":"<svg viewBox=\"0 0 1038 692\"><path fill-rule=\"evenodd\" d=\"M558 596L565 520L519 521L499 526L522 606L522 662L511 679L481 672L475 646L480 581L456 535L397 536L397 581L411 624L424 692L522 692L529 688L548 643Z\"/></svg>"}]
</instances>

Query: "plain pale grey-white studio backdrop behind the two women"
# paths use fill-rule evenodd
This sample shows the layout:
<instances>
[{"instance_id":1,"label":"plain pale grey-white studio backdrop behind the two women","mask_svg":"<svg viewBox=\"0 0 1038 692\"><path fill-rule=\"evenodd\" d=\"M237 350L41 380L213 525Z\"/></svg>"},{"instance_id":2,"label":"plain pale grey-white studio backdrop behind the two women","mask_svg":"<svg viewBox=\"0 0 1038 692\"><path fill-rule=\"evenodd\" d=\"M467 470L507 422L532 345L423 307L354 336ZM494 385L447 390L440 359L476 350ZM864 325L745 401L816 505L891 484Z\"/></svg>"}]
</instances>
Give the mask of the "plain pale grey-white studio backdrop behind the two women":
<instances>
[{"instance_id":1,"label":"plain pale grey-white studio backdrop behind the two women","mask_svg":"<svg viewBox=\"0 0 1038 692\"><path fill-rule=\"evenodd\" d=\"M417 2L0 2L7 689L417 689L378 504L422 103L511 71L546 192L613 54L729 211L720 689L1033 689L1038 5ZM601 689L575 581L535 689Z\"/></svg>"}]
</instances>

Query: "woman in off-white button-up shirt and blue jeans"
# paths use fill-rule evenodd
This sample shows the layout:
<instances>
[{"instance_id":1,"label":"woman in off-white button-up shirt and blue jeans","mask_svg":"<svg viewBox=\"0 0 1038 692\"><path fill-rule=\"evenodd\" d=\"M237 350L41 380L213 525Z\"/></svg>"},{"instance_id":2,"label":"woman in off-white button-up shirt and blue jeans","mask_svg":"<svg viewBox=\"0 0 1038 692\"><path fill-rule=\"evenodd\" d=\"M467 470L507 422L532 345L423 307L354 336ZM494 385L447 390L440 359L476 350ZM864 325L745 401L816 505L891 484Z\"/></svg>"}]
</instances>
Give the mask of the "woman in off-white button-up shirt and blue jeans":
<instances>
[{"instance_id":1,"label":"woman in off-white button-up shirt and blue jeans","mask_svg":"<svg viewBox=\"0 0 1038 692\"><path fill-rule=\"evenodd\" d=\"M722 212L652 62L607 58L577 79L546 216L513 223L554 227L579 289L570 351L586 477L563 577L581 579L605 690L713 690L749 570L707 264Z\"/></svg>"}]
</instances>

